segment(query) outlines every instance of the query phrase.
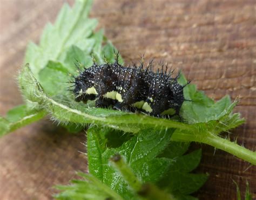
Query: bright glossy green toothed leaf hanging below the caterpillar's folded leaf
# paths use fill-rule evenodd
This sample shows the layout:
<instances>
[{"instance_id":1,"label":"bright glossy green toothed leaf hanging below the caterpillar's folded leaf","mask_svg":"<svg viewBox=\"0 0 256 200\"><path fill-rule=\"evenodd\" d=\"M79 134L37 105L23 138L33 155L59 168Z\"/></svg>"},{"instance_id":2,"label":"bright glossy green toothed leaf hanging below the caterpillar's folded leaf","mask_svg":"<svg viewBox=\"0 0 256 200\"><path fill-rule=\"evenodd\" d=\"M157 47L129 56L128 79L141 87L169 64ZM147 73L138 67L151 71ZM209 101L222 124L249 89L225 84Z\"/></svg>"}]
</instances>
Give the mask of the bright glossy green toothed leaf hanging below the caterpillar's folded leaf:
<instances>
[{"instance_id":1,"label":"bright glossy green toothed leaf hanging below the caterpillar's folded leaf","mask_svg":"<svg viewBox=\"0 0 256 200\"><path fill-rule=\"evenodd\" d=\"M134 174L142 182L157 182L168 169L171 160L157 155L169 144L174 129L142 130L117 148L106 148L106 135L116 134L113 129L90 128L87 132L87 155L89 171L103 183L116 190L124 198L132 197L127 183L110 165L109 159L115 154L123 155ZM125 133L123 133L125 134ZM109 140L111 137L109 137ZM110 141L110 143L112 143Z\"/></svg>"}]
</instances>

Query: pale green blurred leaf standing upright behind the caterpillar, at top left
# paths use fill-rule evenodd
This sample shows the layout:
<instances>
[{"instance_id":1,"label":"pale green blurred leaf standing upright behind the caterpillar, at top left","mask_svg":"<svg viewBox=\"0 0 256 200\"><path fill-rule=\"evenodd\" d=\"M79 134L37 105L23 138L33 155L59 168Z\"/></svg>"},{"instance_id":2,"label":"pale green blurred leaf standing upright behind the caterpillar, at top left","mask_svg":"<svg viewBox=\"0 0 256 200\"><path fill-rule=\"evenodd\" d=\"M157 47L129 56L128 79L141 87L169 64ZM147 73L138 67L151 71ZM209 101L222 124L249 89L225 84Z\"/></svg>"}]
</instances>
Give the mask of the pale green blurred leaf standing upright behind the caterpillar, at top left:
<instances>
[{"instance_id":1,"label":"pale green blurred leaf standing upright behind the caterpillar, at top left","mask_svg":"<svg viewBox=\"0 0 256 200\"><path fill-rule=\"evenodd\" d=\"M64 4L54 25L47 24L42 33L39 45L29 43L25 63L29 63L35 77L49 60L64 61L66 52L72 45L92 49L93 39L89 39L97 25L96 19L87 18L92 1L76 1L71 9Z\"/></svg>"}]
</instances>

